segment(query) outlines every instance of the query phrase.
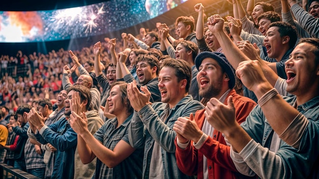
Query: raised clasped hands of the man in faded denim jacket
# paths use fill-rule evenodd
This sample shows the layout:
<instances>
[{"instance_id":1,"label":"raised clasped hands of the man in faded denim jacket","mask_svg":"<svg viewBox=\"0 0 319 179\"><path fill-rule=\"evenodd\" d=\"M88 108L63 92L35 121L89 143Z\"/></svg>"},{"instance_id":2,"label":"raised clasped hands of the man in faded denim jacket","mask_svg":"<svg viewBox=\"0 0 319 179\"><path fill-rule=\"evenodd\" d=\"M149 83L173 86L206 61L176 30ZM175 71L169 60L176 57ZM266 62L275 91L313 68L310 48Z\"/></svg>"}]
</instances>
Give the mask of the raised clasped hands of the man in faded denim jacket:
<instances>
[{"instance_id":1,"label":"raised clasped hands of the man in faded denim jacket","mask_svg":"<svg viewBox=\"0 0 319 179\"><path fill-rule=\"evenodd\" d=\"M131 106L136 111L140 111L149 102L151 93L146 86L141 86L141 93L136 85L136 81L127 84L127 97Z\"/></svg>"}]
</instances>

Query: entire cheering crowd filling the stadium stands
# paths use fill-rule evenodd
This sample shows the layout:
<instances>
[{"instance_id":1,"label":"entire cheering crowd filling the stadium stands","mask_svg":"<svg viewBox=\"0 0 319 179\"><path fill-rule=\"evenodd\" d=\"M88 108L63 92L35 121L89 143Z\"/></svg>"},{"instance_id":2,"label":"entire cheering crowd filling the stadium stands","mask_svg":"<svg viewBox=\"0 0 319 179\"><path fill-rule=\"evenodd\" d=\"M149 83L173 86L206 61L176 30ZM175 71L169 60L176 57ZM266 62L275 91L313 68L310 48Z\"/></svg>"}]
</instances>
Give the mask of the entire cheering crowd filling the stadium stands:
<instances>
[{"instance_id":1,"label":"entire cheering crowd filling the stadium stands","mask_svg":"<svg viewBox=\"0 0 319 179\"><path fill-rule=\"evenodd\" d=\"M208 18L199 3L173 29L2 55L0 162L40 178L318 178L319 1L280 2Z\"/></svg>"}]
</instances>

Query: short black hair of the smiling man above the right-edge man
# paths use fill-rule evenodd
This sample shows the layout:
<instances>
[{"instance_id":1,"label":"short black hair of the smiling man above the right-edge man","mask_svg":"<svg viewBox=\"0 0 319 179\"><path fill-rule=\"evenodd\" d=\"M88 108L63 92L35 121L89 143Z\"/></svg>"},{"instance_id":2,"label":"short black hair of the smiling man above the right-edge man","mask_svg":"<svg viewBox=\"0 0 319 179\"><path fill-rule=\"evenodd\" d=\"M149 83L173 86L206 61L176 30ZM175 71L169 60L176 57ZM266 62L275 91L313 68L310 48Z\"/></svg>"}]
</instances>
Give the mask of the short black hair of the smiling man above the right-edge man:
<instances>
[{"instance_id":1,"label":"short black hair of the smiling man above the right-edge man","mask_svg":"<svg viewBox=\"0 0 319 179\"><path fill-rule=\"evenodd\" d=\"M294 48L295 44L297 42L298 34L296 27L293 25L290 25L287 22L273 22L269 25L270 27L278 27L278 32L280 34L280 37L283 36L289 36L289 48Z\"/></svg>"}]
</instances>

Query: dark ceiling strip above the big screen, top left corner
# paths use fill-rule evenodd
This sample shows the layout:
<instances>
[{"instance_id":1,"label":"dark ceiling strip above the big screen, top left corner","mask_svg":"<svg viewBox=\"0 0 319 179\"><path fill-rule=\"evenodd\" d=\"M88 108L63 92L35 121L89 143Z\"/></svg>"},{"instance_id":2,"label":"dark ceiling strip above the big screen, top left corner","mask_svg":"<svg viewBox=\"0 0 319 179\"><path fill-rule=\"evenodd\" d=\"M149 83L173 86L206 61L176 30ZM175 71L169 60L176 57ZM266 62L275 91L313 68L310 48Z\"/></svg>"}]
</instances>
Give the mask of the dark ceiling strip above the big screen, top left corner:
<instances>
[{"instance_id":1,"label":"dark ceiling strip above the big screen, top left corner","mask_svg":"<svg viewBox=\"0 0 319 179\"><path fill-rule=\"evenodd\" d=\"M86 6L110 0L10 0L2 3L0 11L41 11Z\"/></svg>"}]
</instances>

